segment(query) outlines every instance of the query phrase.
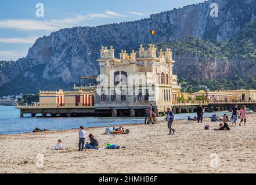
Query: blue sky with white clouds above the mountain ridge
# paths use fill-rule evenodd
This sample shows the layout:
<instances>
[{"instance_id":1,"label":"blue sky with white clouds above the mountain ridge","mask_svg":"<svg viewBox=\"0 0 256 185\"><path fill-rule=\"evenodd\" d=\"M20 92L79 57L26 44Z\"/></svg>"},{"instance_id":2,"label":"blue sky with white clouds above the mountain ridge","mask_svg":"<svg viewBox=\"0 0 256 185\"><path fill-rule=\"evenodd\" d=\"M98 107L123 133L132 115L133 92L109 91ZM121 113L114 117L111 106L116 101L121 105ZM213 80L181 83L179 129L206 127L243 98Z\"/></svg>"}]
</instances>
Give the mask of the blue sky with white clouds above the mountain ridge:
<instances>
[{"instance_id":1,"label":"blue sky with white clouds above the mountain ridge","mask_svg":"<svg viewBox=\"0 0 256 185\"><path fill-rule=\"evenodd\" d=\"M0 61L26 57L41 36L61 28L148 18L205 0L8 0L0 2Z\"/></svg>"}]
</instances>

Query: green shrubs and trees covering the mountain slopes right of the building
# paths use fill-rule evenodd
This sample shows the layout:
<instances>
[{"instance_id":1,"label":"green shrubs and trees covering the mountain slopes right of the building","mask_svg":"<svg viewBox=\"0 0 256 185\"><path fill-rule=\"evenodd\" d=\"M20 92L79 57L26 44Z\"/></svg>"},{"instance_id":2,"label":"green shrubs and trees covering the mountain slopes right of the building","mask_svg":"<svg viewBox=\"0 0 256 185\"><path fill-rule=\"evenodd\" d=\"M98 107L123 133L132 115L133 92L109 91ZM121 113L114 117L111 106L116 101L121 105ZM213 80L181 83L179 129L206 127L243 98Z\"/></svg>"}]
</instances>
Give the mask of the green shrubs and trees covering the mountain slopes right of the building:
<instances>
[{"instance_id":1,"label":"green shrubs and trees covering the mountain slopes right of the building","mask_svg":"<svg viewBox=\"0 0 256 185\"><path fill-rule=\"evenodd\" d=\"M242 61L241 65L250 69L256 66L256 20L246 24L240 34L229 42L215 40L203 40L194 36L186 36L182 40L165 43L158 47L171 47L175 50L183 50L192 56L217 58L223 62ZM250 61L250 64L248 63ZM239 71L241 66L236 66ZM256 89L256 71L248 77L237 73L229 74L228 77L214 80L194 80L186 76L178 76L182 86L199 85L208 86L211 90L235 90L237 88Z\"/></svg>"}]
</instances>

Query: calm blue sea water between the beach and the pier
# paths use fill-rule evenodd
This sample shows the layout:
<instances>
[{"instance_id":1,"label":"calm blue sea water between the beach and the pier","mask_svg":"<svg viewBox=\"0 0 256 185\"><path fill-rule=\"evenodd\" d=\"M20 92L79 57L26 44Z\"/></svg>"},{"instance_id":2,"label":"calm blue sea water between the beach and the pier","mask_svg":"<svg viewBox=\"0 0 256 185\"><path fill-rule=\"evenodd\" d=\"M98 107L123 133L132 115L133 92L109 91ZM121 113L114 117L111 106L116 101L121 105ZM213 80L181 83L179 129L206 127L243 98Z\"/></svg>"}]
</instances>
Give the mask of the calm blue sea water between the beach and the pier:
<instances>
[{"instance_id":1,"label":"calm blue sea water between the beach and the pier","mask_svg":"<svg viewBox=\"0 0 256 185\"><path fill-rule=\"evenodd\" d=\"M223 112L218 112L221 116ZM186 119L188 115L194 117L194 113L176 114L175 119ZM205 113L205 117L210 117L212 113ZM20 117L20 110L14 106L0 106L0 134L20 134L31 132L35 127L41 129L72 129L81 125L84 127L102 127L107 125L124 125L144 123L144 117L30 117L30 114L24 114ZM164 117L158 117L158 120L164 120Z\"/></svg>"}]
</instances>

